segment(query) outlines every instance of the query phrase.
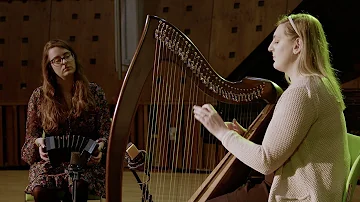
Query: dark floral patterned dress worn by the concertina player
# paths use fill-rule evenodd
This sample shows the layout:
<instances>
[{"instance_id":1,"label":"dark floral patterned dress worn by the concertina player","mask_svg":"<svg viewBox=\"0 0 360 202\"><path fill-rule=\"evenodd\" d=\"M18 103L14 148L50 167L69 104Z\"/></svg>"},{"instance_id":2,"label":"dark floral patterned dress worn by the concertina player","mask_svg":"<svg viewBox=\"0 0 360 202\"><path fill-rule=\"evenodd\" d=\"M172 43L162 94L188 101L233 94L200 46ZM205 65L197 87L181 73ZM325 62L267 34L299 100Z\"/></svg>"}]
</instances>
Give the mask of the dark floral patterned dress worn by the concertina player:
<instances>
[{"instance_id":1,"label":"dark floral patterned dress worn by the concertina player","mask_svg":"<svg viewBox=\"0 0 360 202\"><path fill-rule=\"evenodd\" d=\"M90 91L94 95L96 106L83 112L78 118L68 118L66 123L59 124L59 129L50 135L82 135L97 142L107 140L110 132L110 113L101 87L90 83ZM54 189L69 187L70 177L66 168L69 162L61 163L58 167L52 167L50 162L40 158L39 149L35 140L42 137L40 104L43 99L42 87L34 90L28 103L26 138L21 149L21 158L30 165L29 185L26 193L32 193L35 186L43 186ZM102 158L105 158L103 154ZM102 160L103 160L102 159ZM103 162L103 161L102 161ZM89 193L97 196L105 196L105 164L87 166L81 173L81 179L89 184Z\"/></svg>"}]
</instances>

